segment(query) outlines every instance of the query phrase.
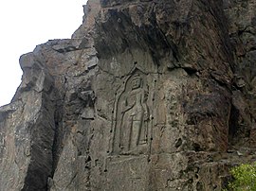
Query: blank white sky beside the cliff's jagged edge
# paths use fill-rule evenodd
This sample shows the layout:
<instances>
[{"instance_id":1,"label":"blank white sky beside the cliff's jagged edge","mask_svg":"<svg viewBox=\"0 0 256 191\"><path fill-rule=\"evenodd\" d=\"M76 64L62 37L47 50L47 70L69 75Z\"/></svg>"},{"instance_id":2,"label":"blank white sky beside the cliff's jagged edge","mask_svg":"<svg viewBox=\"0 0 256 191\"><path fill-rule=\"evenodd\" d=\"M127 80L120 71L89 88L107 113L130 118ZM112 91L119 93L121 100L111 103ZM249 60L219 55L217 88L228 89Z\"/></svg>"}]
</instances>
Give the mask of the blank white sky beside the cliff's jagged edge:
<instances>
[{"instance_id":1,"label":"blank white sky beside the cliff's jagged edge","mask_svg":"<svg viewBox=\"0 0 256 191\"><path fill-rule=\"evenodd\" d=\"M82 24L87 0L1 0L0 106L21 82L19 58L52 39L71 38Z\"/></svg>"}]
</instances>

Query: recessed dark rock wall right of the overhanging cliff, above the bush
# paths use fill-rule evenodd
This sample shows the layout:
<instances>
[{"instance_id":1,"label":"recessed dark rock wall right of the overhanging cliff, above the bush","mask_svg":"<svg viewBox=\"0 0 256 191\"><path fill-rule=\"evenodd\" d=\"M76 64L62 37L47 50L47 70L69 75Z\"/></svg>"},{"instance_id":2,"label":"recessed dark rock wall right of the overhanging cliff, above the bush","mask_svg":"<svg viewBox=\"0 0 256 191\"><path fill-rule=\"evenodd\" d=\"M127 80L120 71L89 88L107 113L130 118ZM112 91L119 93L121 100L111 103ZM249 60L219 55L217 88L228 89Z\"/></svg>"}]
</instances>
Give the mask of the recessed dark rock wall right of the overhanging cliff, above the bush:
<instances>
[{"instance_id":1,"label":"recessed dark rock wall right of the overhanging cliff, above the bush","mask_svg":"<svg viewBox=\"0 0 256 191\"><path fill-rule=\"evenodd\" d=\"M224 1L224 9L235 54L231 139L255 147L256 2Z\"/></svg>"}]
</instances>

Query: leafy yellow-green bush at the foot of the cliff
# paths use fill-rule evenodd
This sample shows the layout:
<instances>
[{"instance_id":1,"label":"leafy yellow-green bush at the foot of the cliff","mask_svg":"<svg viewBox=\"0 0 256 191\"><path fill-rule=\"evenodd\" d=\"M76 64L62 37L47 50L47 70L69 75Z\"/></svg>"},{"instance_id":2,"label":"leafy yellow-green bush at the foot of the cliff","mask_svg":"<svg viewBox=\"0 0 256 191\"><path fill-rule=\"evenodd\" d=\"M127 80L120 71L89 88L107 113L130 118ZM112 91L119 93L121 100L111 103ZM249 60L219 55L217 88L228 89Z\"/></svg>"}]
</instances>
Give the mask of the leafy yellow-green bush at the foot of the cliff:
<instances>
[{"instance_id":1,"label":"leafy yellow-green bush at the foot of the cliff","mask_svg":"<svg viewBox=\"0 0 256 191\"><path fill-rule=\"evenodd\" d=\"M234 180L229 182L229 190L256 191L256 163L235 166L230 173Z\"/></svg>"}]
</instances>

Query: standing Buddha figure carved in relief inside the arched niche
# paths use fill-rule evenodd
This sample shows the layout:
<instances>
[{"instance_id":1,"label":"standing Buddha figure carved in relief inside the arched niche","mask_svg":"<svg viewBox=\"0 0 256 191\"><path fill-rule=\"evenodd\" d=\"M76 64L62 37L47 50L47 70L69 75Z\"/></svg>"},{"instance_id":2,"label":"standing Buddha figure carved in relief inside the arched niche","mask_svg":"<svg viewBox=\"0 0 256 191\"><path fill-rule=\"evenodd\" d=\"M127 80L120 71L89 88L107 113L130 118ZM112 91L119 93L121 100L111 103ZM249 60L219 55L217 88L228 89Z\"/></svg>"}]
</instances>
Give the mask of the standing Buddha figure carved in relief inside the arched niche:
<instances>
[{"instance_id":1,"label":"standing Buddha figure carved in relief inside the arched niche","mask_svg":"<svg viewBox=\"0 0 256 191\"><path fill-rule=\"evenodd\" d=\"M147 143L149 110L148 91L143 88L142 78L136 74L126 84L127 92L120 103L119 148L122 151L134 150Z\"/></svg>"}]
</instances>

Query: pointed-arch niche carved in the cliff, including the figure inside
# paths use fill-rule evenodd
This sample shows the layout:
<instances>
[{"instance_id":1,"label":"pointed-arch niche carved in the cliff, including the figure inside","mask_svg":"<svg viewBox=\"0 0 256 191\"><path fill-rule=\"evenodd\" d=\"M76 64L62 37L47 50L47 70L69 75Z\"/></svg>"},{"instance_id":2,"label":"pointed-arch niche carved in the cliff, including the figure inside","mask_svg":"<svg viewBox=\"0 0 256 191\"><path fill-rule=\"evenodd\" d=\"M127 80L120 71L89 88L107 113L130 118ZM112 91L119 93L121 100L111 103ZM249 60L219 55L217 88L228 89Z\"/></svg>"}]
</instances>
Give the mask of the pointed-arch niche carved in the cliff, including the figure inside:
<instances>
[{"instance_id":1,"label":"pointed-arch niche carved in the cliff, including the figure inside","mask_svg":"<svg viewBox=\"0 0 256 191\"><path fill-rule=\"evenodd\" d=\"M147 76L136 69L116 95L111 153L145 153L151 137Z\"/></svg>"}]
</instances>

